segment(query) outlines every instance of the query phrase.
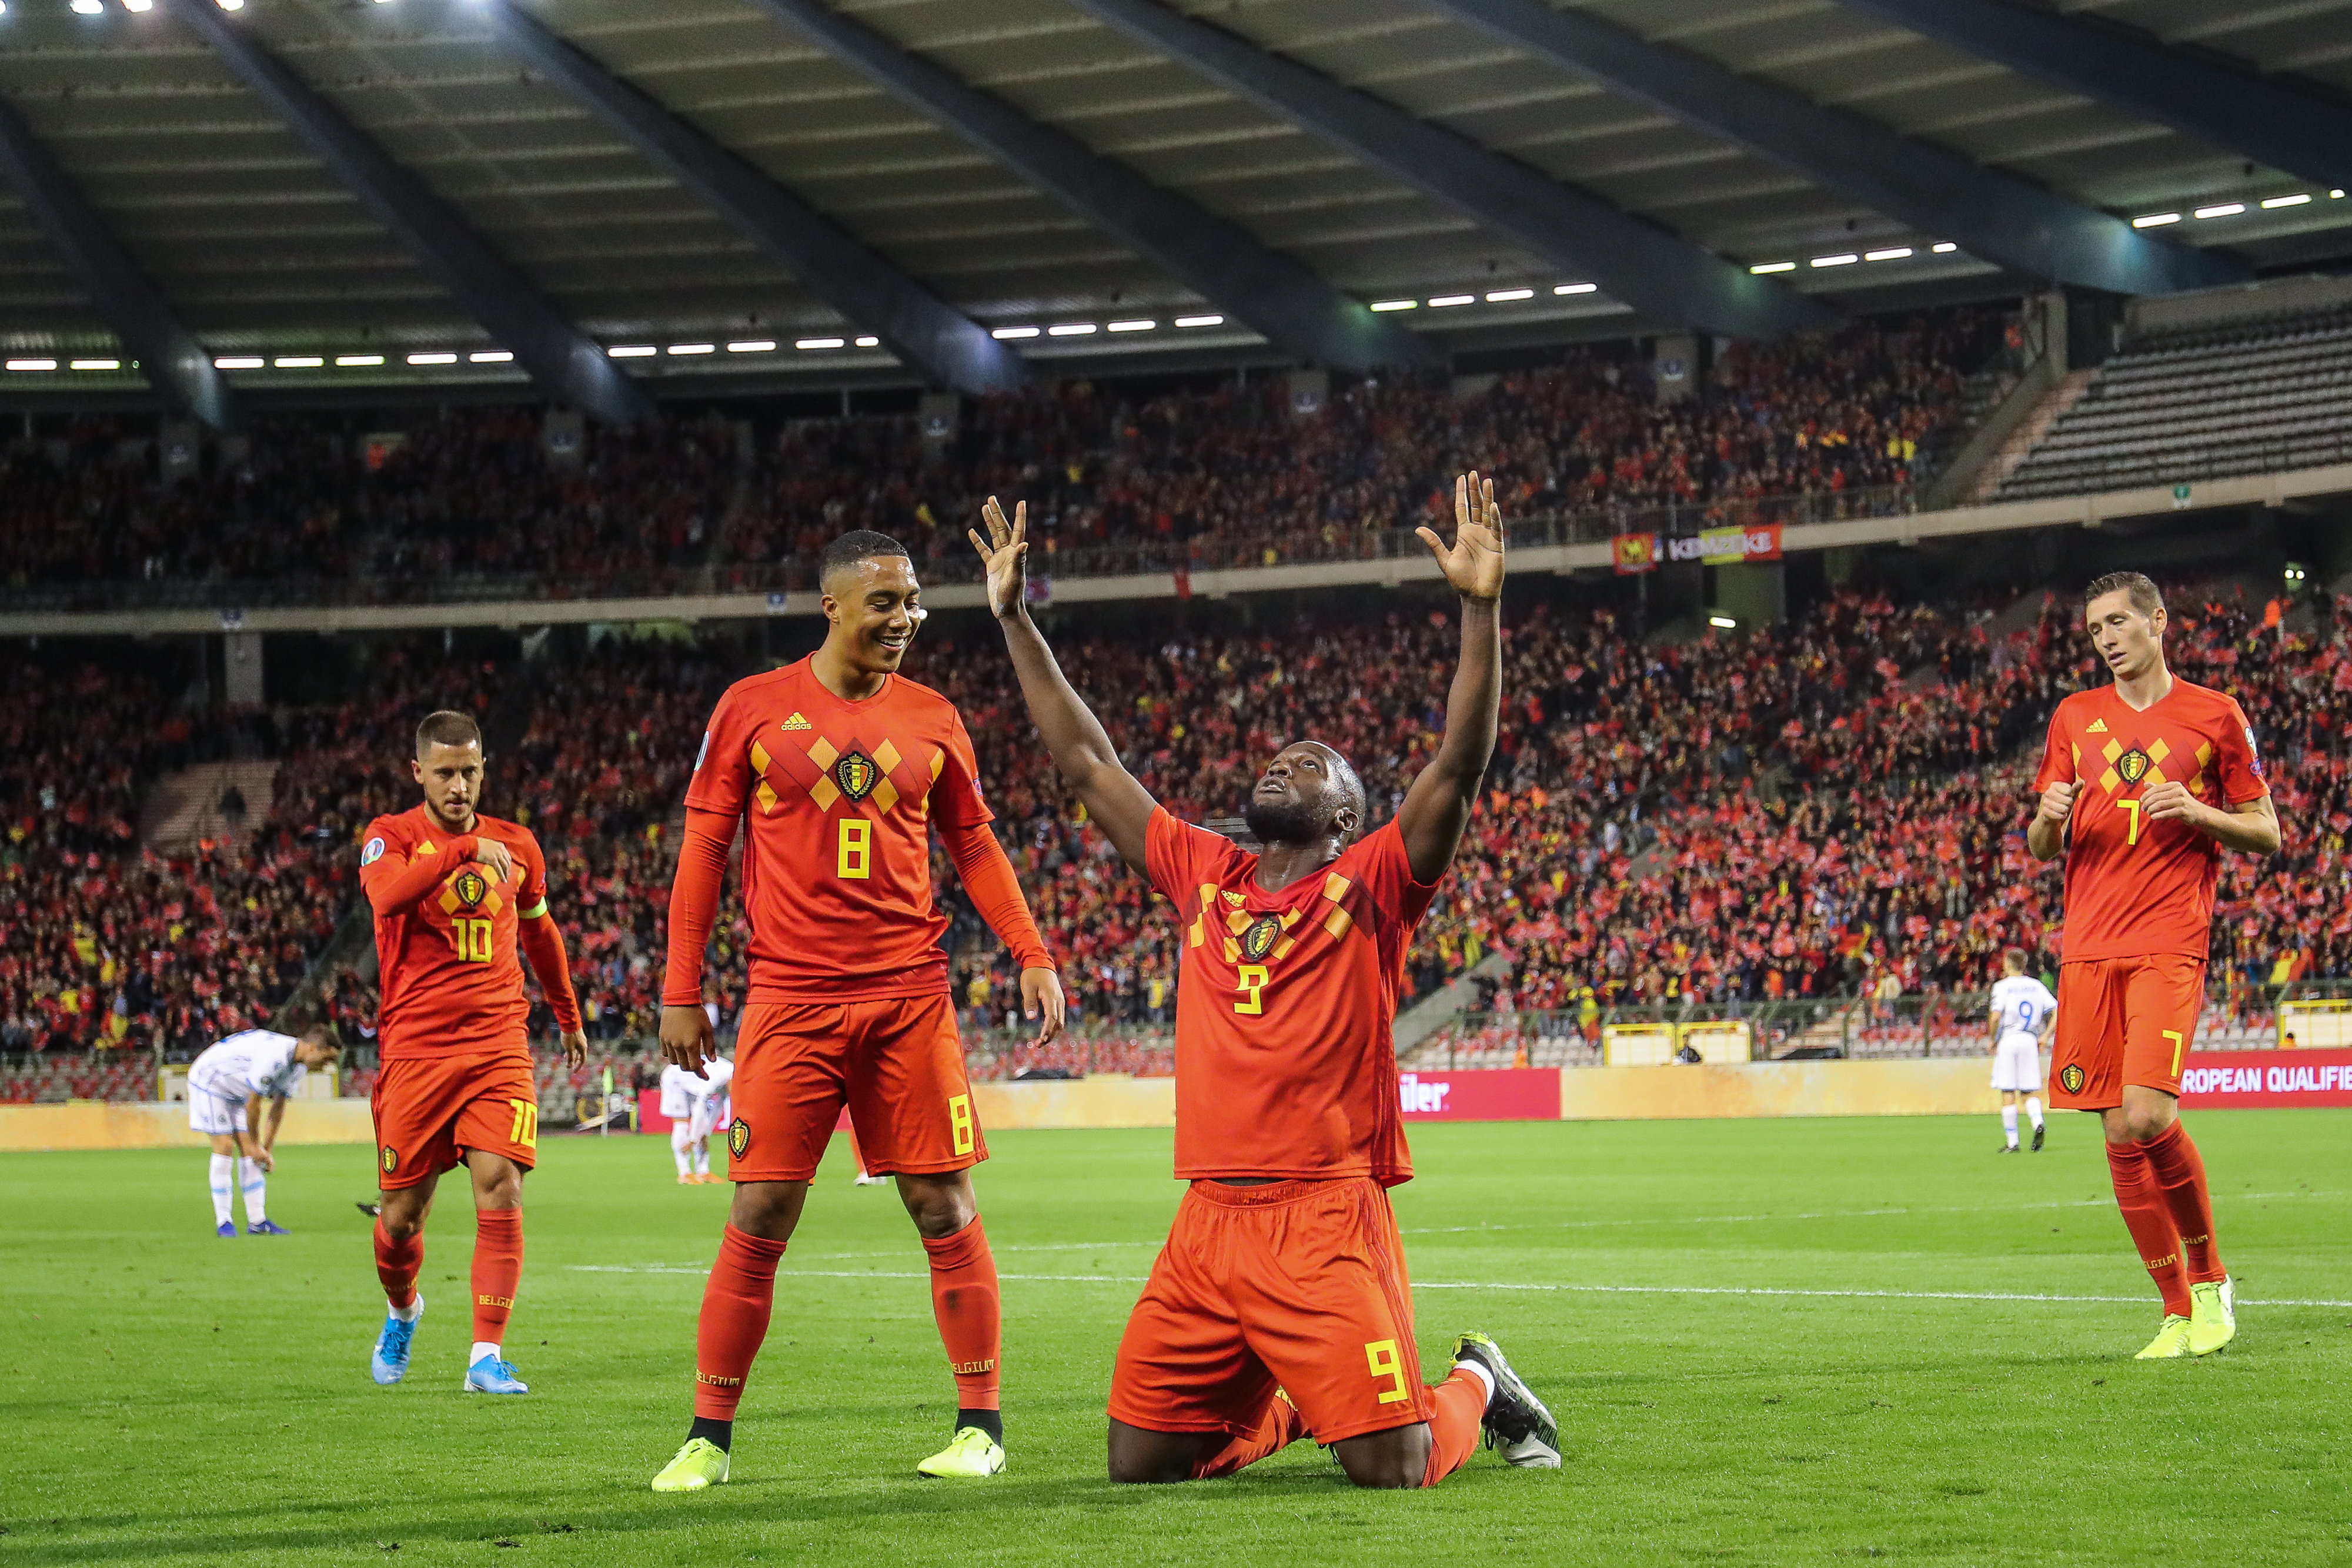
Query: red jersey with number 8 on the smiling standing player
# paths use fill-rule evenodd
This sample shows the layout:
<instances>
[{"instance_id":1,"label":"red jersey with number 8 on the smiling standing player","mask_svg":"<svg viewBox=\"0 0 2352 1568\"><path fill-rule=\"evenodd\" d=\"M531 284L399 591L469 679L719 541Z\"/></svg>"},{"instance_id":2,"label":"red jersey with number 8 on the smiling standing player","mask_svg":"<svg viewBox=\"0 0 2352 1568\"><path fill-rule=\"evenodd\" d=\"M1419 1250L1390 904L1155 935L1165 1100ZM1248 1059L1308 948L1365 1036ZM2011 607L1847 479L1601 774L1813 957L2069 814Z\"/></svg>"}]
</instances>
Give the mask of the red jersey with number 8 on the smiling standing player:
<instances>
[{"instance_id":1,"label":"red jersey with number 8 on the smiling standing player","mask_svg":"<svg viewBox=\"0 0 2352 1568\"><path fill-rule=\"evenodd\" d=\"M948 990L931 818L995 818L955 703L898 675L847 703L807 658L739 679L703 731L687 804L750 825L753 1001Z\"/></svg>"}]
</instances>

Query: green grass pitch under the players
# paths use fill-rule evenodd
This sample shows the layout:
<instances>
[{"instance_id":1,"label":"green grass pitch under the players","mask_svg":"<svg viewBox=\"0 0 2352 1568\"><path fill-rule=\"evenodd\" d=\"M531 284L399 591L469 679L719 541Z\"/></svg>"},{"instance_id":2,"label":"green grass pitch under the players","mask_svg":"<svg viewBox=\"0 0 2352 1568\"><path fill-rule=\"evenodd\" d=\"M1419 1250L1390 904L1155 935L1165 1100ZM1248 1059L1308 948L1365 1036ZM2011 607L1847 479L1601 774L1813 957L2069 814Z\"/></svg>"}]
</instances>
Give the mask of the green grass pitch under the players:
<instances>
[{"instance_id":1,"label":"green grass pitch under the players","mask_svg":"<svg viewBox=\"0 0 2352 1568\"><path fill-rule=\"evenodd\" d=\"M463 1187L428 1232L409 1382L376 1389L369 1150L285 1150L285 1239L216 1241L205 1154L7 1154L0 1563L2345 1563L2345 1112L2192 1117L2237 1345L2136 1363L2157 1312L2086 1117L1421 1126L1397 1192L1421 1347L1496 1333L1566 1467L1479 1453L1357 1493L1301 1443L1112 1488L1103 1389L1176 1204L1167 1133L1007 1133L1011 1469L920 1481L953 1413L922 1251L826 1166L736 1427L736 1481L656 1497L684 1436L722 1187L656 1138L548 1138L508 1349L461 1396ZM1851 1295L1849 1295L1851 1293ZM1992 1300L1985 1300L1992 1295Z\"/></svg>"}]
</instances>

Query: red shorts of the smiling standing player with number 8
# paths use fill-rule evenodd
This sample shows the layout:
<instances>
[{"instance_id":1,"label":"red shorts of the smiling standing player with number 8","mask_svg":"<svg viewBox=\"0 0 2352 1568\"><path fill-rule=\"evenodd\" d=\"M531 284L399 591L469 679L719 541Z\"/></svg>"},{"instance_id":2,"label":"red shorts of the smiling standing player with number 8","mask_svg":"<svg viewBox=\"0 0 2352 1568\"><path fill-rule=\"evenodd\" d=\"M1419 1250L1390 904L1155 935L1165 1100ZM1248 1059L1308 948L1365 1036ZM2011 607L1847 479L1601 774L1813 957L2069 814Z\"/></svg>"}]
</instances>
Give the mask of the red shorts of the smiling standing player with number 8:
<instances>
[{"instance_id":1,"label":"red shorts of the smiling standing player with number 8","mask_svg":"<svg viewBox=\"0 0 2352 1568\"><path fill-rule=\"evenodd\" d=\"M727 1093L729 1180L814 1180L844 1103L873 1175L967 1171L988 1159L946 994L753 1001Z\"/></svg>"}]
</instances>

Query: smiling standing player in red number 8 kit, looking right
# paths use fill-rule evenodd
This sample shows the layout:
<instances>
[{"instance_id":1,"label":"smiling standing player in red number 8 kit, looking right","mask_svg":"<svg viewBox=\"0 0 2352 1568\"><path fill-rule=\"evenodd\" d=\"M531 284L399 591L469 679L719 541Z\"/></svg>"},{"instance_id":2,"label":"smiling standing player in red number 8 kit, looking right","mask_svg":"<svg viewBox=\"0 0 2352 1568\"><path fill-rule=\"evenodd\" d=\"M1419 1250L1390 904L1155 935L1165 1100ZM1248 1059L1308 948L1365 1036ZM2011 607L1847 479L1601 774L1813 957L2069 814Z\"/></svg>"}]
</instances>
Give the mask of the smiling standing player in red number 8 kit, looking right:
<instances>
[{"instance_id":1,"label":"smiling standing player in red number 8 kit, looking right","mask_svg":"<svg viewBox=\"0 0 2352 1568\"><path fill-rule=\"evenodd\" d=\"M889 536L842 534L818 562L826 642L720 696L687 788L670 889L661 1051L689 1072L717 1056L701 1006L703 945L736 827L746 827L750 997L736 1025L736 1182L694 1347L694 1425L656 1493L729 1476L743 1380L767 1338L776 1260L800 1222L842 1105L863 1164L896 1175L931 1260L931 1312L955 1375L948 1448L924 1476L1004 1469L997 1265L971 1194L988 1140L948 999L948 917L931 903L938 830L981 917L1021 964L1021 999L1061 1032L1063 994L1004 846L988 827L955 703L898 665L922 628L915 562Z\"/></svg>"}]
</instances>

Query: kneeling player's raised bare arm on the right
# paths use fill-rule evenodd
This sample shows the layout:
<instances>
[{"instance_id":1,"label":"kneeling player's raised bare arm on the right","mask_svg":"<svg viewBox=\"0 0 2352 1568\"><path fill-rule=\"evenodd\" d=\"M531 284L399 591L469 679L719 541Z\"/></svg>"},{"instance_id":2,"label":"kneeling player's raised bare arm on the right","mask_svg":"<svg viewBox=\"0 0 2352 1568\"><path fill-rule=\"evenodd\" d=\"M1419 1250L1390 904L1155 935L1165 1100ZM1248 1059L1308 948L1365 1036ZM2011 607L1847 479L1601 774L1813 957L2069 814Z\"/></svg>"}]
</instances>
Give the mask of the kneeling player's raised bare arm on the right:
<instances>
[{"instance_id":1,"label":"kneeling player's raised bare arm on the right","mask_svg":"<svg viewBox=\"0 0 2352 1568\"><path fill-rule=\"evenodd\" d=\"M1463 656L1446 696L1446 733L1397 811L1414 877L1437 882L1470 825L1479 780L1494 759L1503 705L1503 508L1494 480L1454 480L1454 545L1435 529L1414 529L1463 599Z\"/></svg>"}]
</instances>

